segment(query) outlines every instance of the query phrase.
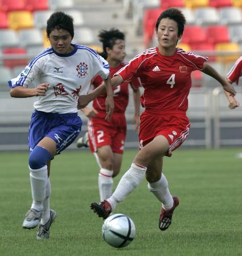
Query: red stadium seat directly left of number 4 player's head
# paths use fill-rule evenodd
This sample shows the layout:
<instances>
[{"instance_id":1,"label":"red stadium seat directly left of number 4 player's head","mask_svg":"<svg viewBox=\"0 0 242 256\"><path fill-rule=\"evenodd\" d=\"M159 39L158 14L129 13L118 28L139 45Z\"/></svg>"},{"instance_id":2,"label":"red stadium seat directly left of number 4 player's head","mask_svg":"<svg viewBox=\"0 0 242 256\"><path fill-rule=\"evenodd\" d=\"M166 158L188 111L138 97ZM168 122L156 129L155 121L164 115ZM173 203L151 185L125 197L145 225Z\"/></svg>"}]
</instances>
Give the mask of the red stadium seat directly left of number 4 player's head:
<instances>
[{"instance_id":1,"label":"red stadium seat directly left of number 4 player's head","mask_svg":"<svg viewBox=\"0 0 242 256\"><path fill-rule=\"evenodd\" d=\"M143 31L144 31L144 46L148 47L155 33L155 26L158 16L163 9L147 9L144 14Z\"/></svg>"}]
</instances>

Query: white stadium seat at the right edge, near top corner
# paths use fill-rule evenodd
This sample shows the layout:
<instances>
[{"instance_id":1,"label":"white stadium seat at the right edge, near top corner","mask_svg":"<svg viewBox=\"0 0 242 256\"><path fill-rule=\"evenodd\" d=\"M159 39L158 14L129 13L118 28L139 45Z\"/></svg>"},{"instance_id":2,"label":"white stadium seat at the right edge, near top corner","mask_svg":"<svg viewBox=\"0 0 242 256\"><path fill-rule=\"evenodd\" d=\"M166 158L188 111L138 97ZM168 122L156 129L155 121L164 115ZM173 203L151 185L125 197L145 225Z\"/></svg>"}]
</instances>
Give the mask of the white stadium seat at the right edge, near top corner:
<instances>
[{"instance_id":1,"label":"white stadium seat at the right edge, near top corner","mask_svg":"<svg viewBox=\"0 0 242 256\"><path fill-rule=\"evenodd\" d=\"M219 11L221 24L230 26L231 24L242 23L241 9L237 7L222 7Z\"/></svg>"}]
</instances>

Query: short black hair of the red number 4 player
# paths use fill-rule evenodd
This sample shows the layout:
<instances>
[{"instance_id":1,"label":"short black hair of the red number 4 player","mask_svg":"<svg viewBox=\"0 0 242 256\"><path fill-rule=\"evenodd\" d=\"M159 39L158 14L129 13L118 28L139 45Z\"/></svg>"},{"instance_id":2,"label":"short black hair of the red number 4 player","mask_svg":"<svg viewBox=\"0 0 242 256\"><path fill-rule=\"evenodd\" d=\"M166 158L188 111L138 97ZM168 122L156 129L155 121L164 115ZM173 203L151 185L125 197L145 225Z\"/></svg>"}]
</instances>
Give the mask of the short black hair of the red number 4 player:
<instances>
[{"instance_id":1,"label":"short black hair of the red number 4 player","mask_svg":"<svg viewBox=\"0 0 242 256\"><path fill-rule=\"evenodd\" d=\"M162 11L161 15L158 17L156 22L156 32L158 30L158 26L161 22L161 19L172 19L177 23L178 27L178 36L183 34L183 30L186 24L186 18L183 13L176 8L169 8L165 11Z\"/></svg>"}]
</instances>

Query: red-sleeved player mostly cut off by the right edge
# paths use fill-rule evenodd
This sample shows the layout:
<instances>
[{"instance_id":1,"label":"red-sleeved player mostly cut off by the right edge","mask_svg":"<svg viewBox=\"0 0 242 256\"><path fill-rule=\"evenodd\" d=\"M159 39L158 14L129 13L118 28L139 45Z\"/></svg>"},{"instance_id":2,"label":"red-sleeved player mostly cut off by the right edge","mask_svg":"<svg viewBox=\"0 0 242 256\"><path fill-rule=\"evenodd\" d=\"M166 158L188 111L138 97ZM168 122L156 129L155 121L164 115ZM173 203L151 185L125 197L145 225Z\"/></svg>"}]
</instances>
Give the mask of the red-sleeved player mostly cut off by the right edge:
<instances>
[{"instance_id":1,"label":"red-sleeved player mostly cut off by the right edge","mask_svg":"<svg viewBox=\"0 0 242 256\"><path fill-rule=\"evenodd\" d=\"M235 64L233 67L230 69L230 72L228 72L227 75L227 81L230 82L231 84L233 82L236 82L236 84L239 84L239 78L242 76L242 57L240 56L239 59L235 61ZM235 97L231 96L230 93L224 91L226 94L226 97L228 99L228 108L230 109L235 109L238 106L240 106L239 101L235 99Z\"/></svg>"}]
</instances>

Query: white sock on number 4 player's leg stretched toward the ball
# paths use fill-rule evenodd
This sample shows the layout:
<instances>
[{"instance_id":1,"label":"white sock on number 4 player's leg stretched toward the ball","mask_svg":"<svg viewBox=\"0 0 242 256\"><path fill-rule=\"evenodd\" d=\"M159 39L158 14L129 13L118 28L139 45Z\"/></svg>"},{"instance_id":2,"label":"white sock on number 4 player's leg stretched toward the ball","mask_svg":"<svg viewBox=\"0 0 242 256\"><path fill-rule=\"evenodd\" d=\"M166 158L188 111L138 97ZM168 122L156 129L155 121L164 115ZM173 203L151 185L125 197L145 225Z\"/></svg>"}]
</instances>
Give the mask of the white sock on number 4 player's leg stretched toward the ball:
<instances>
[{"instance_id":1,"label":"white sock on number 4 player's leg stretched toward the ball","mask_svg":"<svg viewBox=\"0 0 242 256\"><path fill-rule=\"evenodd\" d=\"M146 170L147 167L138 166L135 163L131 164L130 169L120 179L118 187L112 196L107 199L112 210L114 210L116 205L118 205L120 201L123 201L126 196L135 190L137 185L141 183Z\"/></svg>"}]
</instances>

